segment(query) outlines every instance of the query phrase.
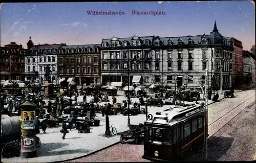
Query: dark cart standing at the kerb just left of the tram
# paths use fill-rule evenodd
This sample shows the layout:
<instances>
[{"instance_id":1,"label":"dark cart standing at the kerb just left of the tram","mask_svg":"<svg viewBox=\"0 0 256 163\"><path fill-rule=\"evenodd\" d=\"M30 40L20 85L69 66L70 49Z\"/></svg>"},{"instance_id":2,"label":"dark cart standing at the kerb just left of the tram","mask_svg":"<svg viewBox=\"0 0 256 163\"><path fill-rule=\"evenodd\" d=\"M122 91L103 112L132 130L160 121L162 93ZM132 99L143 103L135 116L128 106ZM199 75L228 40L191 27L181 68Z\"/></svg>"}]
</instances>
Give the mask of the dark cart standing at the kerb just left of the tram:
<instances>
[{"instance_id":1,"label":"dark cart standing at the kerb just left of the tram","mask_svg":"<svg viewBox=\"0 0 256 163\"><path fill-rule=\"evenodd\" d=\"M143 124L139 125L130 125L130 129L124 132L117 133L120 135L120 142L124 144L128 139L135 139L136 144L140 144L143 141L144 137L144 128Z\"/></svg>"}]
</instances>

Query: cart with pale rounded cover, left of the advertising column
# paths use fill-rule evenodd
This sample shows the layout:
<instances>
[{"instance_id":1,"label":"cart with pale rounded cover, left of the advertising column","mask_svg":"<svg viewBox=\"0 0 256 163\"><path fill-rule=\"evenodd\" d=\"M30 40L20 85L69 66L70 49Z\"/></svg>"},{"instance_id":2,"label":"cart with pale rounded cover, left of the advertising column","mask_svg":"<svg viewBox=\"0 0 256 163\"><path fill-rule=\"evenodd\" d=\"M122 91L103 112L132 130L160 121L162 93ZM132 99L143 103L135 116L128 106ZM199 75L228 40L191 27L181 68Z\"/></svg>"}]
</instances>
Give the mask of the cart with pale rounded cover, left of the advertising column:
<instances>
[{"instance_id":1,"label":"cart with pale rounded cover, left of the advertising column","mask_svg":"<svg viewBox=\"0 0 256 163\"><path fill-rule=\"evenodd\" d=\"M20 120L17 117L2 115L1 121L1 154L12 157L20 150Z\"/></svg>"}]
</instances>

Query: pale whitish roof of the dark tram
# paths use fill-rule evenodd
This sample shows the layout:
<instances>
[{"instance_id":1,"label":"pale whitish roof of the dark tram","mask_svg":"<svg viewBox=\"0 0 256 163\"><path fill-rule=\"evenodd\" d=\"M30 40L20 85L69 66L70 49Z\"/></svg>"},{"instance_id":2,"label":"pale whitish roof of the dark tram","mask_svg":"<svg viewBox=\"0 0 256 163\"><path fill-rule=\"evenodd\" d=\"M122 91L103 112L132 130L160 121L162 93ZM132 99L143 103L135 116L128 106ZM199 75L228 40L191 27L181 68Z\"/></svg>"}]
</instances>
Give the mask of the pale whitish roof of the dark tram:
<instances>
[{"instance_id":1,"label":"pale whitish roof of the dark tram","mask_svg":"<svg viewBox=\"0 0 256 163\"><path fill-rule=\"evenodd\" d=\"M195 114L204 111L204 105L195 102L184 102L185 106L171 106L168 109L158 111L153 115L152 120L146 123L162 124L173 126L180 121L184 121Z\"/></svg>"}]
</instances>

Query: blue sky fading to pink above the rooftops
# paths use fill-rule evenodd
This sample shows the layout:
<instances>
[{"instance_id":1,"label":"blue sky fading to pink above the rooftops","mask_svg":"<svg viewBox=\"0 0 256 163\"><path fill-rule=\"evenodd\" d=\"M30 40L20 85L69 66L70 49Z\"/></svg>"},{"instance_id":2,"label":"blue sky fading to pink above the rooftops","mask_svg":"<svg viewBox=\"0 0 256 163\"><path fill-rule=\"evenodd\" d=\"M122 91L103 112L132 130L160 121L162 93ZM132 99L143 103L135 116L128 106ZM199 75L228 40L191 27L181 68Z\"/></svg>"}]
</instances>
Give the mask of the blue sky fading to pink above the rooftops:
<instances>
[{"instance_id":1,"label":"blue sky fading to pink above the rooftops","mask_svg":"<svg viewBox=\"0 0 256 163\"><path fill-rule=\"evenodd\" d=\"M123 11L125 15L89 15L88 11ZM137 11L164 11L165 15L132 15ZM255 9L250 1L205 2L91 2L4 3L0 9L1 46L11 41L27 48L34 44L101 43L102 38L138 36L174 37L210 34L216 20L219 32L243 43L255 44Z\"/></svg>"}]
</instances>

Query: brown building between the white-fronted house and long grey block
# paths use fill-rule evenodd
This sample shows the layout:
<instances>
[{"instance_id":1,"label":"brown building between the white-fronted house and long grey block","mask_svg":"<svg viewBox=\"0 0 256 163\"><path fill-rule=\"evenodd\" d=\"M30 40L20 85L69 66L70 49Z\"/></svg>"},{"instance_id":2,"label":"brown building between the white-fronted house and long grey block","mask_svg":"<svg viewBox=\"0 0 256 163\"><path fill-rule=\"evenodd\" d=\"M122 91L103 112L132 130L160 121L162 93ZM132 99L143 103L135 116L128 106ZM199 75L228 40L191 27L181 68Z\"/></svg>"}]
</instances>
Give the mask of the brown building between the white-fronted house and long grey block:
<instances>
[{"instance_id":1,"label":"brown building between the white-fronted house and long grey block","mask_svg":"<svg viewBox=\"0 0 256 163\"><path fill-rule=\"evenodd\" d=\"M69 78L81 85L100 82L100 44L61 46L58 54L61 80Z\"/></svg>"}]
</instances>

